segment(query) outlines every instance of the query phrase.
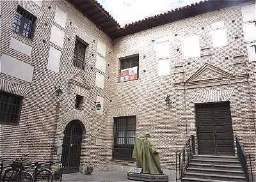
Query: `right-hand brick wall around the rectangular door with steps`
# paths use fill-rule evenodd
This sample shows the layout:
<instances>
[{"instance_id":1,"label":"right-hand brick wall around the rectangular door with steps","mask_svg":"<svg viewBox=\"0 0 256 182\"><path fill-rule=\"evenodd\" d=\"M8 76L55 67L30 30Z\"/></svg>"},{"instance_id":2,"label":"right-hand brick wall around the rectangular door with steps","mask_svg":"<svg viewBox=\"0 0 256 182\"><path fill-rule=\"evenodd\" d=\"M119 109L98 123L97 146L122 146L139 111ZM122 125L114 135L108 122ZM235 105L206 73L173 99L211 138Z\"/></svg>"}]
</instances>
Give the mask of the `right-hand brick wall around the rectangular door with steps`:
<instances>
[{"instance_id":1,"label":"right-hand brick wall around the rectangular door with steps","mask_svg":"<svg viewBox=\"0 0 256 182\"><path fill-rule=\"evenodd\" d=\"M175 151L182 148L189 135L196 136L196 129L190 128L190 123L196 123L196 102L229 101L234 135L243 141L246 153L255 158L255 62L248 61L244 42L244 5L141 31L113 43L111 115L137 116L136 133L142 136L150 131L163 168L175 169ZM219 21L224 21L227 28L228 45L214 48L211 24ZM194 34L200 38L201 56L182 59L182 38ZM170 73L164 76L157 75L156 43L160 39L168 42L164 51L170 52ZM132 54L140 56L139 79L118 82L118 58ZM166 95L170 95L170 105L164 101ZM109 129L113 127L112 117ZM108 139L109 163L124 165L111 160L111 132Z\"/></svg>"}]
</instances>

